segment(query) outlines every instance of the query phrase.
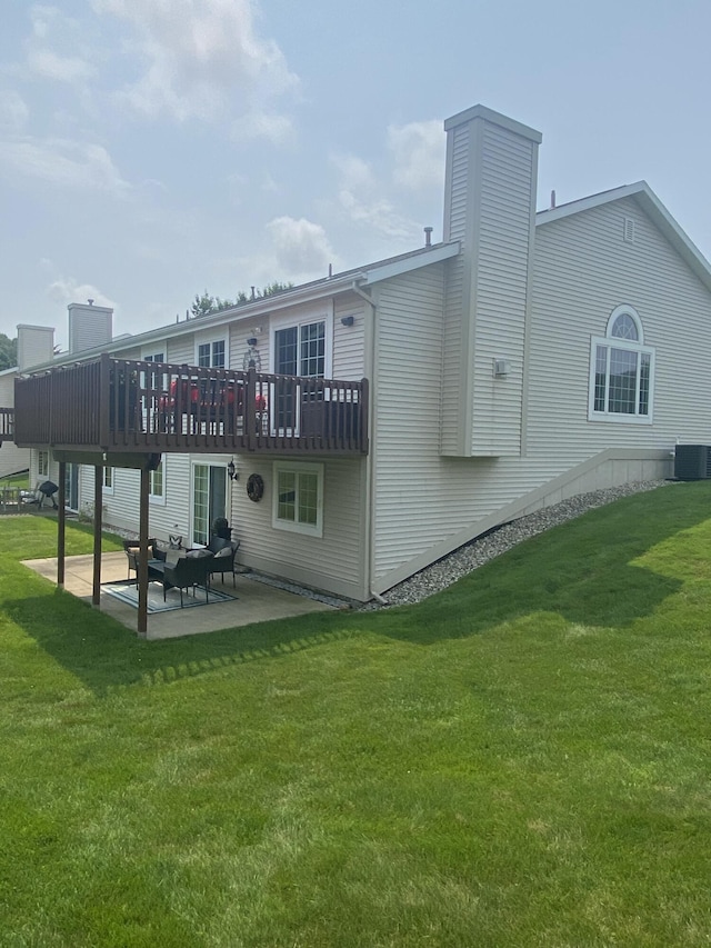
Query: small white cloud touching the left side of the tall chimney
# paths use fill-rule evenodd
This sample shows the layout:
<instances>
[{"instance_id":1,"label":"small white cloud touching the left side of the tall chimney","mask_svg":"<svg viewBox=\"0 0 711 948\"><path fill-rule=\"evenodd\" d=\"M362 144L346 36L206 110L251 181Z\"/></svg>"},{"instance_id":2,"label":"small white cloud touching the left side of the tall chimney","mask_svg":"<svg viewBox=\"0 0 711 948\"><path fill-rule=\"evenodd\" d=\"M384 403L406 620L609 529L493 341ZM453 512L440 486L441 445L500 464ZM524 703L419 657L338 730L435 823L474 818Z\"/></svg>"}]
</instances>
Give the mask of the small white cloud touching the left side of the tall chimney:
<instances>
[{"instance_id":1,"label":"small white cloud touching the left side of the tall chimney","mask_svg":"<svg viewBox=\"0 0 711 948\"><path fill-rule=\"evenodd\" d=\"M388 148L394 159L395 184L412 191L441 189L445 139L440 121L390 126Z\"/></svg>"}]
</instances>

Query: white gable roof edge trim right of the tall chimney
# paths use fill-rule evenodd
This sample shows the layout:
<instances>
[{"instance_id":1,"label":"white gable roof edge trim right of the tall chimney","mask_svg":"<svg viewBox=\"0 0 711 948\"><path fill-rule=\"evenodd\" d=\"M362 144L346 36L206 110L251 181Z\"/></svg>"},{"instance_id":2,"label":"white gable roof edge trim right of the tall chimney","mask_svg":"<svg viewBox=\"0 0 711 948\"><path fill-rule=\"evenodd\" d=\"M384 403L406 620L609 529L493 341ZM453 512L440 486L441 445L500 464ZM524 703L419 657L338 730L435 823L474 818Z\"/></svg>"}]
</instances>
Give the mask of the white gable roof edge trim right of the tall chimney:
<instances>
[{"instance_id":1,"label":"white gable roof edge trim right of the tall chimney","mask_svg":"<svg viewBox=\"0 0 711 948\"><path fill-rule=\"evenodd\" d=\"M647 181L635 181L633 184L623 184L621 188L612 188L610 191L600 191L578 201L570 201L557 208L538 211L535 226L542 227L561 218L582 211L619 201L621 198L633 198L644 213L658 227L661 233L671 243L688 267L697 275L704 287L711 291L711 263L707 260L699 248L679 227Z\"/></svg>"}]
</instances>

